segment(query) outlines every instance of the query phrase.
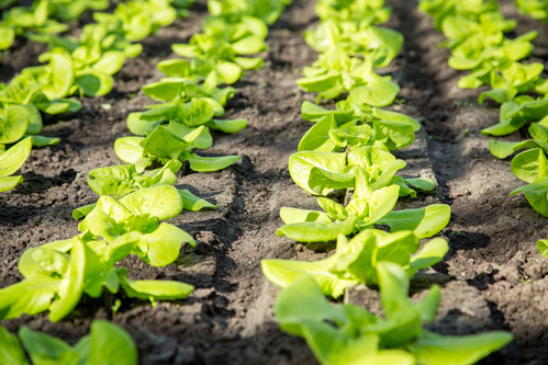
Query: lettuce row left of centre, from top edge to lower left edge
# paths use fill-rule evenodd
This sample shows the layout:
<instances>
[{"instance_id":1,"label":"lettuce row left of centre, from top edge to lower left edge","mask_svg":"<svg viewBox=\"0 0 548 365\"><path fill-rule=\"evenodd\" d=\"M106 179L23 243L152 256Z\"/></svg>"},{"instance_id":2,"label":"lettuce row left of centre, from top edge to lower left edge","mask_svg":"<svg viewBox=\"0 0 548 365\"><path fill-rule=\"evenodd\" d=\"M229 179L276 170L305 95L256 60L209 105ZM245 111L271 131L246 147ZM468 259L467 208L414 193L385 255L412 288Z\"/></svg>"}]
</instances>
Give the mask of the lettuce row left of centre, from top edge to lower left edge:
<instances>
[{"instance_id":1,"label":"lettuce row left of centre, from top edge to lower left edge","mask_svg":"<svg viewBox=\"0 0 548 365\"><path fill-rule=\"evenodd\" d=\"M212 146L210 127L235 133L247 125L246 119L217 118L235 93L234 88L220 85L237 81L244 69L261 67L262 58L246 56L267 48L267 25L287 3L269 4L265 8L264 2L209 3L211 15L203 23L203 33L195 34L188 45L174 45L186 58L160 62L158 68L168 78L143 88L161 103L130 114L127 126L138 136L115 141L116 155L131 164L90 172L88 183L100 197L97 203L74 210L75 219L83 218L78 225L81 233L24 252L18 265L24 280L0 289L1 318L49 311L49 319L59 321L75 309L82 295L97 298L105 289L112 294L123 289L130 298L153 304L181 299L192 293L191 285L180 282L131 280L116 263L135 254L150 265L165 266L179 256L181 244L194 244L190 235L161 220L177 216L182 209L215 206L188 190L172 186L177 183L176 173L183 163L194 171L216 171L238 159L237 156L200 157L192 151ZM32 138L23 139L3 156L10 157L23 147L30 151L31 145ZM20 337L25 345L24 334ZM10 349L13 343L9 342ZM86 355L82 351L89 350L86 347L89 341L83 343L83 347L77 345L67 352L52 350L42 355L60 361L64 357L59 356L70 353L79 362L86 358L81 357ZM25 350L35 362L33 350L26 346Z\"/></svg>"}]
</instances>

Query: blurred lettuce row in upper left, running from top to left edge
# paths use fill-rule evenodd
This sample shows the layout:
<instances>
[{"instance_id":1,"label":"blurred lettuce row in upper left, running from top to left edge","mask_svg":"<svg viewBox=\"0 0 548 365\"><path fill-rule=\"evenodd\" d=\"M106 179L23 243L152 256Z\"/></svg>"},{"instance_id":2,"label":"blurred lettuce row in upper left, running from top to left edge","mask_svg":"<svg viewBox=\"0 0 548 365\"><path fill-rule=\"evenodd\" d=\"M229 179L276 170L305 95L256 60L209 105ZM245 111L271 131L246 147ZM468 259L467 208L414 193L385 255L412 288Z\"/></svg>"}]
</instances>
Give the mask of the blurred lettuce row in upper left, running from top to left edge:
<instances>
[{"instance_id":1,"label":"blurred lettuce row in upper left, running from top to left edge","mask_svg":"<svg viewBox=\"0 0 548 365\"><path fill-rule=\"evenodd\" d=\"M141 54L143 46L136 42L175 21L178 10L171 2L132 0L118 4L113 13L94 12L96 23L85 25L78 38L49 34L43 39L48 49L38 60L44 65L27 67L9 83L0 83L0 192L23 181L13 174L26 161L33 145L59 142L58 138L40 136L41 112L77 112L81 103L68 96L109 93L112 76L125 59ZM190 5L191 1L178 3ZM7 150L11 144L15 145Z\"/></svg>"}]
</instances>

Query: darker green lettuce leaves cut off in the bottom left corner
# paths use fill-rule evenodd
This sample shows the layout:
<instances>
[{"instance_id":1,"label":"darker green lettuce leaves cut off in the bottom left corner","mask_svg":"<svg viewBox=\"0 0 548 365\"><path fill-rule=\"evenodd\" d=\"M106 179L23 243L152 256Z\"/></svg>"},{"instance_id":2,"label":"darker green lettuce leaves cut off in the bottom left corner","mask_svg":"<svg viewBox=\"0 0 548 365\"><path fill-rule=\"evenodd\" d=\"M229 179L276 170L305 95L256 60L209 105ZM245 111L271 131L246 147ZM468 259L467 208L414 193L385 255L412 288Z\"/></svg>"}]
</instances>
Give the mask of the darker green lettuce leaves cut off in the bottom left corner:
<instances>
[{"instance_id":1,"label":"darker green lettuce leaves cut off in the bottom left corner","mask_svg":"<svg viewBox=\"0 0 548 365\"><path fill-rule=\"evenodd\" d=\"M74 346L45 333L21 327L19 339L0 326L0 362L5 365L64 364L99 365L115 362L120 365L137 364L137 347L122 328L96 320L90 332Z\"/></svg>"}]
</instances>

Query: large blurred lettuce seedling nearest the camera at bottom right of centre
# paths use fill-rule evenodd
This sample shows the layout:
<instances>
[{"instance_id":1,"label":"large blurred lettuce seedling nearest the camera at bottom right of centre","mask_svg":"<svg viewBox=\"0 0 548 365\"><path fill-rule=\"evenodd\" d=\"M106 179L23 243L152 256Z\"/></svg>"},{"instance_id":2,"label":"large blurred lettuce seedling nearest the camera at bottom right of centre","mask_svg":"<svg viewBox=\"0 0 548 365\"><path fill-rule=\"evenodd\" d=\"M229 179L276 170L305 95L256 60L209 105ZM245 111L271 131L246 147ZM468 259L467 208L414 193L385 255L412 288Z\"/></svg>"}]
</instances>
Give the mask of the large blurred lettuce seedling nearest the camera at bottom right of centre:
<instances>
[{"instance_id":1,"label":"large blurred lettuce seedling nearest the camera at bottom right of centre","mask_svg":"<svg viewBox=\"0 0 548 365\"><path fill-rule=\"evenodd\" d=\"M411 303L409 278L395 263L377 267L384 318L361 307L325 299L316 282L304 276L283 289L275 305L280 328L303 337L321 364L474 364L512 341L508 332L439 335L422 328L432 322L440 301L434 286L422 301Z\"/></svg>"}]
</instances>

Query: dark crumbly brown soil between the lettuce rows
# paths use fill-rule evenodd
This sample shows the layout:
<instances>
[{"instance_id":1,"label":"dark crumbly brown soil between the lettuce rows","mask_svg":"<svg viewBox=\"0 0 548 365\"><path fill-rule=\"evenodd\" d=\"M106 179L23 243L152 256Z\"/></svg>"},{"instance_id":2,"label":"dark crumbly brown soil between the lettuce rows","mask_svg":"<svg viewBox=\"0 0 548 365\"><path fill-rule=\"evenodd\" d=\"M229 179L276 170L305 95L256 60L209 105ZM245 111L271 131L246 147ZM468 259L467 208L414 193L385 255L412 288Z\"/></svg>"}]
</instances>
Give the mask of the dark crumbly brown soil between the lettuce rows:
<instances>
[{"instance_id":1,"label":"dark crumbly brown soil between the lettuce rows","mask_svg":"<svg viewBox=\"0 0 548 365\"><path fill-rule=\"evenodd\" d=\"M389 4L393 14L387 25L402 32L405 44L393 65L381 72L392 75L401 87L392 110L424 126L416 142L398 156L409 162L404 175L438 182L433 194L399 204L441 202L452 212L441 235L450 251L443 263L417 274L413 296L420 297L433 283L443 285L443 303L430 326L436 332L503 329L514 334L510 345L482 364L547 364L548 264L536 241L548 237L548 224L523 195L508 196L523 183L512 174L510 160L489 152L488 138L480 134L497 122L497 106L478 104L482 90L457 88L461 73L448 67L449 53L438 46L444 37L417 11L416 1ZM539 31L533 58L546 62L548 26L517 14L510 1L502 9L506 16L518 19L516 35ZM109 95L83 99L78 113L46 118L44 134L60 137L60 145L33 150L21 170L25 181L0 195L0 287L22 278L16 264L26 249L78 233L72 209L97 199L86 183L88 173L121 163L112 146L116 138L130 135L125 117L150 103L141 88L161 77L157 61L175 57L170 45L187 42L200 31L205 13L200 1L188 19L147 38L143 55L126 61ZM190 298L150 306L105 295L83 298L58 323L45 315L0 323L11 331L30 326L75 343L93 319L108 318L133 335L142 364L316 364L303 340L278 329L272 305L279 288L260 271L261 259L315 260L325 254L276 236L282 225L280 207L315 206L315 199L291 181L287 161L310 126L301 119L300 106L314 95L301 91L295 80L316 57L302 37L302 31L316 22L314 2L294 0L271 27L265 67L235 84L237 93L228 102L226 117L246 117L249 126L235 135L215 134L215 146L203 155L239 155L241 161L220 172L180 173L178 187L219 207L184 212L170 220L191 233L197 247L186 248L176 263L165 267L152 267L135 258L122 262L133 278L194 285ZM36 65L43 50L18 42L0 65L2 81L24 66ZM519 132L505 139L525 137L526 132ZM110 308L116 299L122 306L113 315ZM348 290L345 301L373 311L379 308L378 294L365 287Z\"/></svg>"}]
</instances>

